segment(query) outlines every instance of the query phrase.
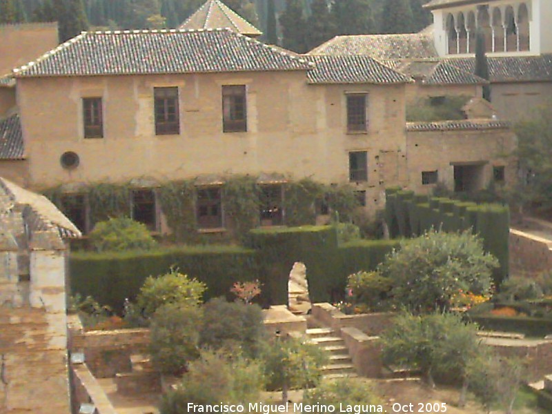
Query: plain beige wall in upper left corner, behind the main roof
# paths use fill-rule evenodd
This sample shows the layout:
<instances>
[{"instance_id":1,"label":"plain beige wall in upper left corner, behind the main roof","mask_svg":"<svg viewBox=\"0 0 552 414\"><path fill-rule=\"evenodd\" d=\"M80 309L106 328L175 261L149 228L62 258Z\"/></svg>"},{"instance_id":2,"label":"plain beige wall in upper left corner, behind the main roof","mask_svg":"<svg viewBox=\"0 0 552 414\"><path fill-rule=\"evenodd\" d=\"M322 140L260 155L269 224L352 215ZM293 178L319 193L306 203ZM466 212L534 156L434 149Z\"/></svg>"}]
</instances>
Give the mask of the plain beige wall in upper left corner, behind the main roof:
<instances>
[{"instance_id":1,"label":"plain beige wall in upper left corner, behind the main roof","mask_svg":"<svg viewBox=\"0 0 552 414\"><path fill-rule=\"evenodd\" d=\"M58 45L57 23L0 25L0 76Z\"/></svg>"}]
</instances>

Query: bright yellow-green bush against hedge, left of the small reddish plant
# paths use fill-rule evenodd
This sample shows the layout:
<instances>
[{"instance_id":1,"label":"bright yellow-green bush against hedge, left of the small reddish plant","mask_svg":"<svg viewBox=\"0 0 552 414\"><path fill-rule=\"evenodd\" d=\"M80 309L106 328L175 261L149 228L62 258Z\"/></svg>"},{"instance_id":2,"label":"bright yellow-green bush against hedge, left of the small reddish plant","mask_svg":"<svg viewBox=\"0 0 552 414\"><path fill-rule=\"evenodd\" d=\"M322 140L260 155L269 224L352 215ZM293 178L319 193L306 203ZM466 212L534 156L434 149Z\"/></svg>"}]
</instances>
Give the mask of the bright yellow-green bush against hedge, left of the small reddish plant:
<instances>
[{"instance_id":1,"label":"bright yellow-green bush against hedge, left of the small reddish plant","mask_svg":"<svg viewBox=\"0 0 552 414\"><path fill-rule=\"evenodd\" d=\"M159 277L148 277L140 289L137 298L138 306L145 315L152 315L163 305L177 304L178 306L193 307L201 303L205 292L204 283L182 275L175 268Z\"/></svg>"}]
</instances>

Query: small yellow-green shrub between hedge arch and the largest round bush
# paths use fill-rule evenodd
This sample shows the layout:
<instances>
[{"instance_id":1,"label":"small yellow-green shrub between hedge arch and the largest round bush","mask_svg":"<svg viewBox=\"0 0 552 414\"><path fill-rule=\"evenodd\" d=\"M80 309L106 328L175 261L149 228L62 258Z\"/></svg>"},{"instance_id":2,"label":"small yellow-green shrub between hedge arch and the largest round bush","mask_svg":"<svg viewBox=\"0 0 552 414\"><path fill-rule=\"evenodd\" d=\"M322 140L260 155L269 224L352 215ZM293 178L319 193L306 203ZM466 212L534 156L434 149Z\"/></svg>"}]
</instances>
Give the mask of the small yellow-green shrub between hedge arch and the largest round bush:
<instances>
[{"instance_id":1,"label":"small yellow-green shrub between hedge arch and the largest round bush","mask_svg":"<svg viewBox=\"0 0 552 414\"><path fill-rule=\"evenodd\" d=\"M377 272L357 272L348 277L347 288L355 304L365 304L372 311L377 311L384 307L393 282Z\"/></svg>"}]
</instances>

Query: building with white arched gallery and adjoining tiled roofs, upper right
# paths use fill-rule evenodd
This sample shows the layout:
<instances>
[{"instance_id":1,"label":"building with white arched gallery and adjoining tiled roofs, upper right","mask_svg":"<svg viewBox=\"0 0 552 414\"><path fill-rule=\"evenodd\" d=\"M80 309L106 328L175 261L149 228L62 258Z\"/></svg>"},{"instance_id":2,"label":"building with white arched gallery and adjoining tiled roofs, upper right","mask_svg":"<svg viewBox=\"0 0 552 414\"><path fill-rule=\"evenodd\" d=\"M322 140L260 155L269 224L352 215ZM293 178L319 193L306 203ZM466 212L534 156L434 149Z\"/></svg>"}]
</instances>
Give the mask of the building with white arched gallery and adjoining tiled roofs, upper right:
<instances>
[{"instance_id":1,"label":"building with white arched gallery and adjoining tiled roofs, upper right","mask_svg":"<svg viewBox=\"0 0 552 414\"><path fill-rule=\"evenodd\" d=\"M482 30L491 103L497 115L508 121L530 117L535 107L549 100L550 1L432 0L424 7L433 13L433 25L420 33L337 36L310 54L368 55L418 78L408 90L408 101L424 96L481 96L485 81L473 77L473 72L475 32Z\"/></svg>"}]
</instances>

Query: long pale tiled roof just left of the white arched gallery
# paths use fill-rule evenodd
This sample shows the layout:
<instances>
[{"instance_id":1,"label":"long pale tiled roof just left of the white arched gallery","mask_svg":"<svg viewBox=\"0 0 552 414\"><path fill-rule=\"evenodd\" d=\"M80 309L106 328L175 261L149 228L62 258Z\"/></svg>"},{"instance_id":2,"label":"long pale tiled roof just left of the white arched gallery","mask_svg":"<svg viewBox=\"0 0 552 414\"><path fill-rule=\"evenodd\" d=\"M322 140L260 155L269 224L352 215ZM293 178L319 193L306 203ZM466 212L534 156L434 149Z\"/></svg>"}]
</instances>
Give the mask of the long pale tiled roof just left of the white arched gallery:
<instances>
[{"instance_id":1,"label":"long pale tiled roof just left of the white arched gallery","mask_svg":"<svg viewBox=\"0 0 552 414\"><path fill-rule=\"evenodd\" d=\"M368 55L378 60L438 57L431 33L336 36L309 55Z\"/></svg>"}]
</instances>

